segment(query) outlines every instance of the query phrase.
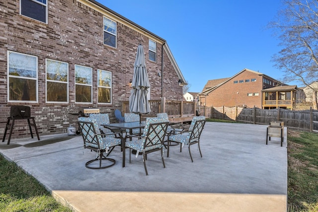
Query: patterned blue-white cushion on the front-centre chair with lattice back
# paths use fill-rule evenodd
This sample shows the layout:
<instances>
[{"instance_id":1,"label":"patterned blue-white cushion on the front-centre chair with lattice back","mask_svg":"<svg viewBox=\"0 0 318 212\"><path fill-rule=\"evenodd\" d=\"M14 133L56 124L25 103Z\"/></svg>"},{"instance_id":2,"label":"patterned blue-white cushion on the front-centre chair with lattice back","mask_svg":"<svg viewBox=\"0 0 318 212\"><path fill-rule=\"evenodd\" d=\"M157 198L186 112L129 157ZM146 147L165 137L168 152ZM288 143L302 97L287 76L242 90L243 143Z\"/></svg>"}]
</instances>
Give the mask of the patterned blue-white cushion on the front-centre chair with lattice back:
<instances>
[{"instance_id":1,"label":"patterned blue-white cushion on the front-centre chair with lattice back","mask_svg":"<svg viewBox=\"0 0 318 212\"><path fill-rule=\"evenodd\" d=\"M162 147L162 141L165 136L164 125L155 128L150 128L151 124L166 122L162 118L147 118L142 137L134 141L126 141L126 147L135 149L139 152L144 152Z\"/></svg>"}]
</instances>

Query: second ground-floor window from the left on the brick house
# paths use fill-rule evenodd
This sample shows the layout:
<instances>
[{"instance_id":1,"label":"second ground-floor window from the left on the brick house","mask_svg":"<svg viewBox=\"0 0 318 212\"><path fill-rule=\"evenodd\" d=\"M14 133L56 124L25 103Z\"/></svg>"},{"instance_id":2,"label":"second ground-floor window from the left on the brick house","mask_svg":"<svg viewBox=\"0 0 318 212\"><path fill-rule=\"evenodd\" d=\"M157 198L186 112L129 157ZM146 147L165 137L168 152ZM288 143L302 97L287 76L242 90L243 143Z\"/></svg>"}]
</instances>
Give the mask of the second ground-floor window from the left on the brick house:
<instances>
[{"instance_id":1,"label":"second ground-floor window from the left on the brick house","mask_svg":"<svg viewBox=\"0 0 318 212\"><path fill-rule=\"evenodd\" d=\"M46 102L69 102L69 64L45 59Z\"/></svg>"}]
</instances>

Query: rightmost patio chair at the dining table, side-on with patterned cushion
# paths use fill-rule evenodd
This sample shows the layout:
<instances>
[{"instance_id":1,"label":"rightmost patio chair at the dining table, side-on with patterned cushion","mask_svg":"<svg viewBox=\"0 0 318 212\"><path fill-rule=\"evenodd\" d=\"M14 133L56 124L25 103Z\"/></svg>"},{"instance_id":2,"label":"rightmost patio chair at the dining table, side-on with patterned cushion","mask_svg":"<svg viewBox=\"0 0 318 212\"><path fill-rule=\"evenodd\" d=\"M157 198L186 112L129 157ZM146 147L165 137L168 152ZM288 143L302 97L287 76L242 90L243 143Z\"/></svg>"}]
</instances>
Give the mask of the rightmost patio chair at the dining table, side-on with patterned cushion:
<instances>
[{"instance_id":1,"label":"rightmost patio chair at the dining table, side-on with patterned cushion","mask_svg":"<svg viewBox=\"0 0 318 212\"><path fill-rule=\"evenodd\" d=\"M193 117L189 130L184 131L174 131L174 134L168 135L167 142L168 142L168 150L167 150L167 157L169 156L169 146L170 142L178 142L180 143L180 152L182 151L182 148L184 144L188 145L189 153L191 157L191 161L193 162L190 146L197 143L200 151L200 155L202 157L201 149L200 149L200 136L202 133L202 130L205 125L205 116L195 116Z\"/></svg>"}]
</instances>

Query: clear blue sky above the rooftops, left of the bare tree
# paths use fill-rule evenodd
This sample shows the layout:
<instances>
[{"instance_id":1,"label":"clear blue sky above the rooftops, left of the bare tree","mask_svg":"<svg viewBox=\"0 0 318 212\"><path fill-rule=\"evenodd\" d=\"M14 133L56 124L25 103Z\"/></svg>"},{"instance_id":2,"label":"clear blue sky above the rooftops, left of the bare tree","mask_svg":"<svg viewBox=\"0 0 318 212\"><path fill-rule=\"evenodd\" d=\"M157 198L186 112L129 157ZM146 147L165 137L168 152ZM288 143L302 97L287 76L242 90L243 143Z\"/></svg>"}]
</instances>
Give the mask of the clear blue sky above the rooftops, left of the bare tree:
<instances>
[{"instance_id":1,"label":"clear blue sky above the rooftops, left of the bare tree","mask_svg":"<svg viewBox=\"0 0 318 212\"><path fill-rule=\"evenodd\" d=\"M278 80L284 76L271 62L279 40L266 28L280 0L97 1L165 39L190 92L245 68Z\"/></svg>"}]
</instances>

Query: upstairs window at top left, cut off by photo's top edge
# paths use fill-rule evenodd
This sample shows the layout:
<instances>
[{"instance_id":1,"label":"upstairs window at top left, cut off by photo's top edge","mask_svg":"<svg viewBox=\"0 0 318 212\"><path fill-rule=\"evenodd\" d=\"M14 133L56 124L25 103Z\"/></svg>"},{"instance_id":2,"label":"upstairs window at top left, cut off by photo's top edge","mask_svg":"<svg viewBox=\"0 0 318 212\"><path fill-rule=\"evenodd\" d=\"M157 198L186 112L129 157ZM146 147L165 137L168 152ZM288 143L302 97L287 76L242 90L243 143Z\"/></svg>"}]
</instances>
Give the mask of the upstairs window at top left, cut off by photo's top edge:
<instances>
[{"instance_id":1,"label":"upstairs window at top left, cut off by photo's top edge","mask_svg":"<svg viewBox=\"0 0 318 212\"><path fill-rule=\"evenodd\" d=\"M20 14L48 23L48 1L47 0L20 0Z\"/></svg>"}]
</instances>

